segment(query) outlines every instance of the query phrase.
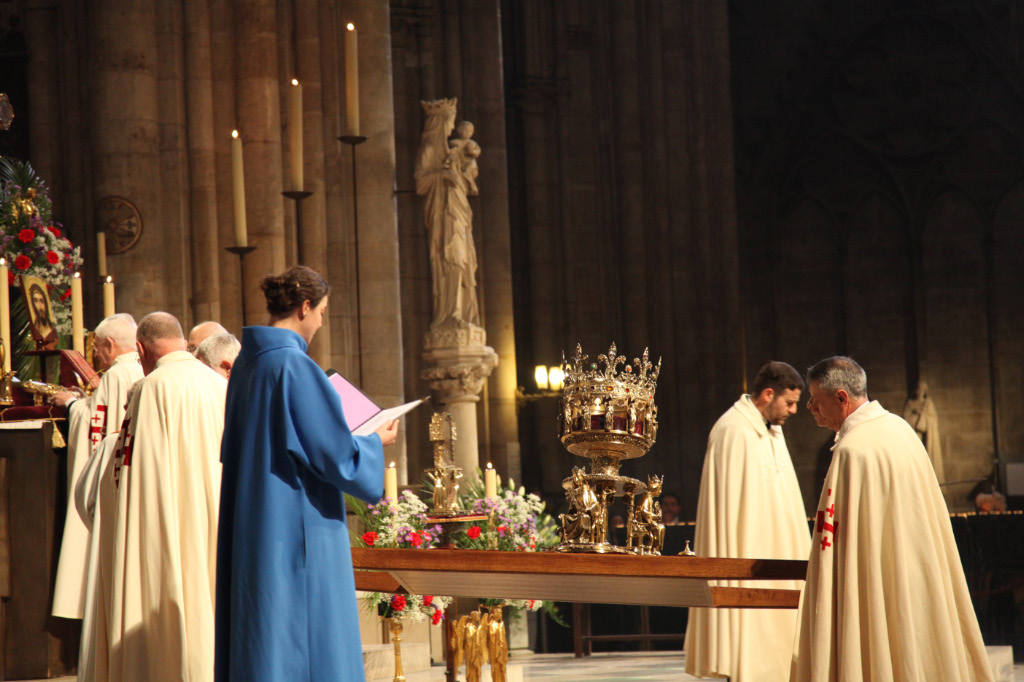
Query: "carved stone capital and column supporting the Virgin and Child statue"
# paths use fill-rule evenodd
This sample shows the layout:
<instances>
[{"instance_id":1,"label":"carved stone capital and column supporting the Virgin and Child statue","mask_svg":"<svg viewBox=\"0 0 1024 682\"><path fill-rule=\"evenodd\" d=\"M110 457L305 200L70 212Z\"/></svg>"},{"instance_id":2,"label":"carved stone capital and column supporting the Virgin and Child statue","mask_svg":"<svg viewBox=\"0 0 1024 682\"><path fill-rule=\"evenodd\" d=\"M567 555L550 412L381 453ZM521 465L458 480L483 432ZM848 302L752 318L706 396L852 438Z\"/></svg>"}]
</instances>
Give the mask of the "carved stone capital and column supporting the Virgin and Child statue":
<instances>
[{"instance_id":1,"label":"carved stone capital and column supporting the Virgin and Child statue","mask_svg":"<svg viewBox=\"0 0 1024 682\"><path fill-rule=\"evenodd\" d=\"M483 383L498 367L498 353L485 343L483 329L456 319L432 327L424 340L423 378L455 420L455 464L469 479L476 477L480 466L476 403Z\"/></svg>"}]
</instances>

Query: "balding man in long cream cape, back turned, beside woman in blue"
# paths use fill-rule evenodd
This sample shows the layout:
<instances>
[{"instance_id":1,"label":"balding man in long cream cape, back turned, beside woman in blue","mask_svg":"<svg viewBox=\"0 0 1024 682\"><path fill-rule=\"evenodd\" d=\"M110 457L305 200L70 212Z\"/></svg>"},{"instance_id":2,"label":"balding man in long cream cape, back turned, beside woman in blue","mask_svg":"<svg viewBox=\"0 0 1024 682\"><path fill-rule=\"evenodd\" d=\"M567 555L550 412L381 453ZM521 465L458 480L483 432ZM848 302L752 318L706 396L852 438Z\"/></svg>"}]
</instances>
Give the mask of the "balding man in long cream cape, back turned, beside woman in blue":
<instances>
[{"instance_id":1,"label":"balding man in long cream cape, back turned, beside woman in blue","mask_svg":"<svg viewBox=\"0 0 1024 682\"><path fill-rule=\"evenodd\" d=\"M213 680L220 437L227 381L166 312L138 326L136 386L112 474L111 682Z\"/></svg>"}]
</instances>

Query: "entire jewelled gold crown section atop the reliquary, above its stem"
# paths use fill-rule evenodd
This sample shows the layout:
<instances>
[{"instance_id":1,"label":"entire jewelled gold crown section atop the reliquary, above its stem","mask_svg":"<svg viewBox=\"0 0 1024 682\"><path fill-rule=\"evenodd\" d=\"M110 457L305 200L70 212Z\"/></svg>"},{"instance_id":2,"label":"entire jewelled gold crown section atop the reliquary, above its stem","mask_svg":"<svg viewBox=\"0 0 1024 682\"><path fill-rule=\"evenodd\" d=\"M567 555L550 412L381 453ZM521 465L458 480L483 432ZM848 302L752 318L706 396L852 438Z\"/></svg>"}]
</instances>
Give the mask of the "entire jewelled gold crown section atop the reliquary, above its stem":
<instances>
[{"instance_id":1,"label":"entire jewelled gold crown section atop the reliquary, above its stem","mask_svg":"<svg viewBox=\"0 0 1024 682\"><path fill-rule=\"evenodd\" d=\"M642 456L657 435L654 389L660 371L662 359L652 365L647 349L628 364L614 343L593 363L579 344L572 358L566 360L563 353L562 443L583 454L577 451L592 450L598 437L623 459Z\"/></svg>"}]
</instances>

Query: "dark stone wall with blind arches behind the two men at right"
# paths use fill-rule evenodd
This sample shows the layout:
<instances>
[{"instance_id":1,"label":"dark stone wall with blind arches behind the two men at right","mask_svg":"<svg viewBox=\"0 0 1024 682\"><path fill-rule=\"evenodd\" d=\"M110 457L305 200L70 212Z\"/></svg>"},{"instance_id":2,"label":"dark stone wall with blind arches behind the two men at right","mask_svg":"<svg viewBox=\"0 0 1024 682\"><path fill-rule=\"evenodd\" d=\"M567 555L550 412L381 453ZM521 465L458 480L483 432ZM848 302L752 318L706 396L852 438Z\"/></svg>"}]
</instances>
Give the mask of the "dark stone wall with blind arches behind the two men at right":
<instances>
[{"instance_id":1,"label":"dark stone wall with blind arches behind the two men at right","mask_svg":"<svg viewBox=\"0 0 1024 682\"><path fill-rule=\"evenodd\" d=\"M850 354L897 414L926 380L947 481L1024 460L1024 26L986 8L730 3L748 363ZM831 435L786 429L810 509Z\"/></svg>"}]
</instances>

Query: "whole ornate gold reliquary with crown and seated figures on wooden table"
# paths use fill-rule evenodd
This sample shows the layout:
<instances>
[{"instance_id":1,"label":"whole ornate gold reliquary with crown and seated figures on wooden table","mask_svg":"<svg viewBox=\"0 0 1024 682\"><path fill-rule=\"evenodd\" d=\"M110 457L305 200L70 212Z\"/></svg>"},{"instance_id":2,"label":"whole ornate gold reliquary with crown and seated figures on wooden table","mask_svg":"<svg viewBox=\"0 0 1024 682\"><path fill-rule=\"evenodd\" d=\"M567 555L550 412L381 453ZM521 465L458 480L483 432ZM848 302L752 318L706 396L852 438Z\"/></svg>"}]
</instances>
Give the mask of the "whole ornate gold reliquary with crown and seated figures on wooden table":
<instances>
[{"instance_id":1,"label":"whole ornate gold reliquary with crown and seated figures on wooden table","mask_svg":"<svg viewBox=\"0 0 1024 682\"><path fill-rule=\"evenodd\" d=\"M660 554L663 479L651 476L644 482L620 474L624 460L643 457L654 444L660 369L662 360L653 366L646 349L628 363L615 344L593 363L580 345L572 358L563 356L558 435L590 467L573 467L562 481L569 510L560 515L559 551ZM625 504L625 547L608 541L609 510L618 499Z\"/></svg>"}]
</instances>

